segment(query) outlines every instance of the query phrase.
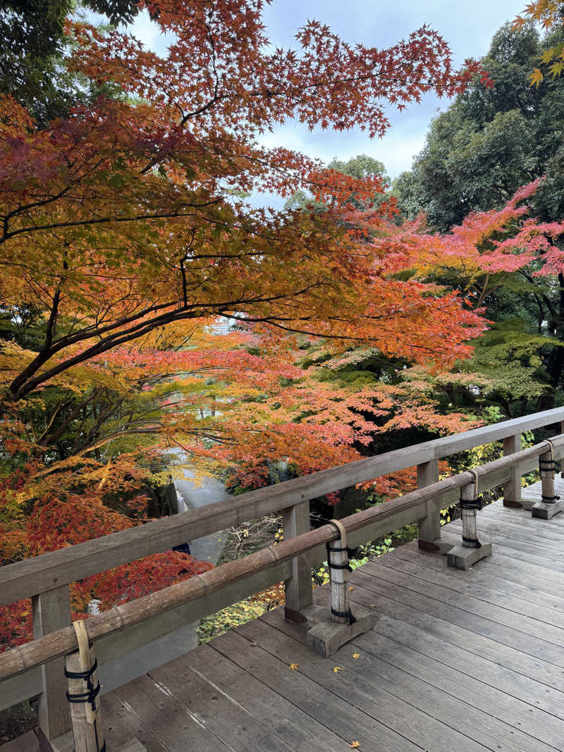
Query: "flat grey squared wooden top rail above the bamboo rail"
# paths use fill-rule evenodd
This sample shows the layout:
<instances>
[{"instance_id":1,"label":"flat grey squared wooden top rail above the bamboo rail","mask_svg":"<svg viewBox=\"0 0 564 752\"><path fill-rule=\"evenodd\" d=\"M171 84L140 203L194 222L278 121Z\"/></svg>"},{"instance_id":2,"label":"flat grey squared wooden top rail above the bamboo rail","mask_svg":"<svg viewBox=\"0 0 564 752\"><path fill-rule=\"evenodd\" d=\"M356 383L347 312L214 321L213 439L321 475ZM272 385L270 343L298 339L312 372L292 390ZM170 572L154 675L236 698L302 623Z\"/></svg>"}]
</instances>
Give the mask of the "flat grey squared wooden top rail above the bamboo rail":
<instances>
[{"instance_id":1,"label":"flat grey squared wooden top rail above the bamboo rail","mask_svg":"<svg viewBox=\"0 0 564 752\"><path fill-rule=\"evenodd\" d=\"M560 421L564 421L564 408L505 420L492 426L425 441L414 447L396 449L293 478L197 510L182 512L174 517L165 517L9 564L2 567L0 605L54 590L217 530L282 511L316 496L335 493L390 472Z\"/></svg>"}]
</instances>

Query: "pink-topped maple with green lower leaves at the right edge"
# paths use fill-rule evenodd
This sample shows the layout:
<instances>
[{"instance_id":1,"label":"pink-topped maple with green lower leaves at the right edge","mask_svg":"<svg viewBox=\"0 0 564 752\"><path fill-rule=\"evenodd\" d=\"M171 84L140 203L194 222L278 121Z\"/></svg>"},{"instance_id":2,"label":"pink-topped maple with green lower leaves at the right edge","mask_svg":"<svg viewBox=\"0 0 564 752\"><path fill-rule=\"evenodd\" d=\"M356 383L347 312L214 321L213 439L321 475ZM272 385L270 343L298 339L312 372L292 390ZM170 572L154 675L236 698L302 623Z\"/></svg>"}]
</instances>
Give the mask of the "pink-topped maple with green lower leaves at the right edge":
<instances>
[{"instance_id":1,"label":"pink-topped maple with green lower leaves at the right edge","mask_svg":"<svg viewBox=\"0 0 564 752\"><path fill-rule=\"evenodd\" d=\"M558 302L564 222L530 216L542 183L522 186L502 208L469 214L449 233L432 232L424 217L392 231L401 247L417 248L419 274L465 290L475 308L486 307L493 322L464 368L486 379L509 417L553 406L564 368ZM536 321L523 315L526 296L537 307ZM521 306L520 318L508 299Z\"/></svg>"}]
</instances>

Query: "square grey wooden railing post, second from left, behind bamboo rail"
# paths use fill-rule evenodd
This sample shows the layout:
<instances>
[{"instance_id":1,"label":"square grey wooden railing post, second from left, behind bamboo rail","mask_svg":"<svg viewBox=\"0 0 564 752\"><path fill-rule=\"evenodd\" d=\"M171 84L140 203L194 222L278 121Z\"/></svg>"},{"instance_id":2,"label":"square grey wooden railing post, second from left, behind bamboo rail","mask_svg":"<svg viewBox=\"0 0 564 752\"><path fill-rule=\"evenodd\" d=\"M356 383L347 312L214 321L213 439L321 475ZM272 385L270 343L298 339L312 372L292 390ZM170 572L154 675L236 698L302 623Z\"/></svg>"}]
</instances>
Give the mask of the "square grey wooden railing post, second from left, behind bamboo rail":
<instances>
[{"instance_id":1,"label":"square grey wooden railing post, second from left, behind bamboo rail","mask_svg":"<svg viewBox=\"0 0 564 752\"><path fill-rule=\"evenodd\" d=\"M303 532L309 532L309 501L300 502L282 512L284 540L296 538ZM292 561L292 577L284 583L286 605L284 614L290 621L302 623L306 620L305 608L313 603L311 588L311 566L305 556L296 556Z\"/></svg>"}]
</instances>

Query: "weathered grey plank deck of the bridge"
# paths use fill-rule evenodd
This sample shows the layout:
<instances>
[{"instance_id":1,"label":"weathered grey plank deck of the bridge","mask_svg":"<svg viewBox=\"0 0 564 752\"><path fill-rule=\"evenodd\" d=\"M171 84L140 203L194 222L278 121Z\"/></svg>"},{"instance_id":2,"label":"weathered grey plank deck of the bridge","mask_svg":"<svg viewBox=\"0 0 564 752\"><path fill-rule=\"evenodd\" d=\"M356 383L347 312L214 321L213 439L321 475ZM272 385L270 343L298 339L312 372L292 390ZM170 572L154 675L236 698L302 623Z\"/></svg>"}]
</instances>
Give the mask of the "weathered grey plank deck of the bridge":
<instances>
[{"instance_id":1,"label":"weathered grey plank deck of the bridge","mask_svg":"<svg viewBox=\"0 0 564 752\"><path fill-rule=\"evenodd\" d=\"M564 750L564 515L497 502L478 529L468 572L414 543L353 572L378 620L329 659L277 609L106 694L108 750Z\"/></svg>"}]
</instances>

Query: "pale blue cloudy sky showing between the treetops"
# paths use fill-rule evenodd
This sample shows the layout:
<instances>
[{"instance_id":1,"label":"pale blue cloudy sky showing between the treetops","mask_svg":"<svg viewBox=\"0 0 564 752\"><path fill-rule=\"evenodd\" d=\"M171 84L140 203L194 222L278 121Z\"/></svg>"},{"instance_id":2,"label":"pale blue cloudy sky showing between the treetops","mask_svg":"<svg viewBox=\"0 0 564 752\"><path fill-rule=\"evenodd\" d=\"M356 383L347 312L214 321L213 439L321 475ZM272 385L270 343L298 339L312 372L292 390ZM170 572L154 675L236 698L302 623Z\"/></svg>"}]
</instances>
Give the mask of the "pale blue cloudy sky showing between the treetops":
<instances>
[{"instance_id":1,"label":"pale blue cloudy sky showing between the treetops","mask_svg":"<svg viewBox=\"0 0 564 752\"><path fill-rule=\"evenodd\" d=\"M295 46L296 29L312 18L327 23L348 42L375 47L390 47L427 23L450 44L455 64L461 65L465 58L484 56L496 30L523 11L525 4L525 0L273 0L263 17L267 35L277 47ZM138 17L133 33L155 50L165 44L146 16ZM347 160L365 153L384 162L393 179L411 168L411 160L423 148L433 115L448 105L448 99L429 95L401 113L390 109L391 128L383 138L370 139L359 129L310 132L299 123L287 123L266 134L262 141L266 146L284 145L323 162L334 156Z\"/></svg>"}]
</instances>

